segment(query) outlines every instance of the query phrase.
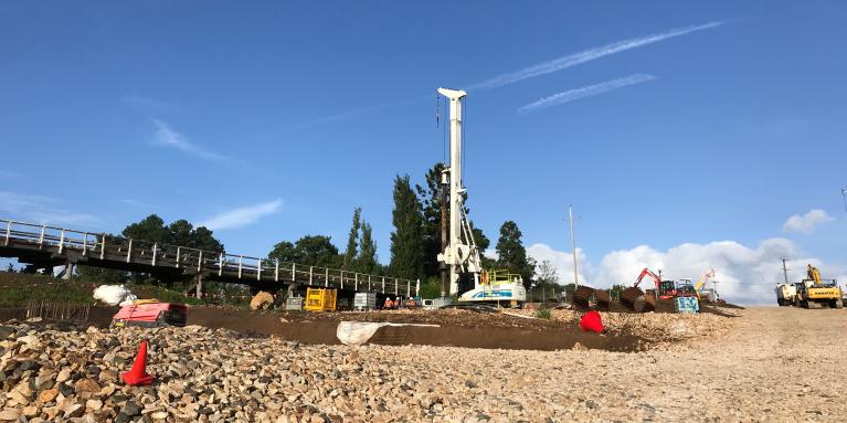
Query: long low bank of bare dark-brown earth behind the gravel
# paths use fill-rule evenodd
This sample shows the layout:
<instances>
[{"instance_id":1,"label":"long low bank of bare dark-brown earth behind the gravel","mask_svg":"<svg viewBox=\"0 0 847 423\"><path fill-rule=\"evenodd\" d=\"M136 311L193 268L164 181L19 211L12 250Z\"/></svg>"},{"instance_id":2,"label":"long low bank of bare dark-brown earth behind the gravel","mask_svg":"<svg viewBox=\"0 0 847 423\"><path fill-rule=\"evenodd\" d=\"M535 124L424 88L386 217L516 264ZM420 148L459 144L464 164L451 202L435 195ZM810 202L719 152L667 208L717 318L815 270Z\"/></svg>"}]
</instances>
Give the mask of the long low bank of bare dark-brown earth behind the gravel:
<instances>
[{"instance_id":1,"label":"long low bank of bare dark-brown earth behind the gravel","mask_svg":"<svg viewBox=\"0 0 847 423\"><path fill-rule=\"evenodd\" d=\"M579 343L584 348L622 352L649 347L647 340L632 334L597 336L582 334L576 325L562 325L554 320L468 310L278 314L192 307L188 314L188 325L230 329L253 336L278 336L307 345L340 343L336 329L341 320L438 325L383 327L370 340L375 345L552 351L574 348Z\"/></svg>"}]
</instances>

